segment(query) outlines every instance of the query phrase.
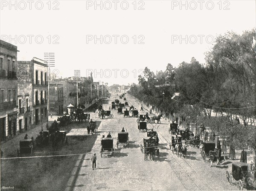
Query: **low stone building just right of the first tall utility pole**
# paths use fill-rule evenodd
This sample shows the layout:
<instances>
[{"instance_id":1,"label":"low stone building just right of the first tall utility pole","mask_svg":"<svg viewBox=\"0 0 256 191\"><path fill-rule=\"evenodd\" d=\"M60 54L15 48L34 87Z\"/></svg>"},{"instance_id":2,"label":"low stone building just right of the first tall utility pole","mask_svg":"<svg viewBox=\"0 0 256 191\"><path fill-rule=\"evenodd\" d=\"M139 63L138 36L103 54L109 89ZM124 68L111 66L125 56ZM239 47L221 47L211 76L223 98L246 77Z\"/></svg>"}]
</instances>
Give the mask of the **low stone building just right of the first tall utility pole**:
<instances>
[{"instance_id":1,"label":"low stone building just right of the first tall utility pole","mask_svg":"<svg viewBox=\"0 0 256 191\"><path fill-rule=\"evenodd\" d=\"M50 84L49 113L55 116L62 116L64 112L63 105L64 105L63 84Z\"/></svg>"}]
</instances>

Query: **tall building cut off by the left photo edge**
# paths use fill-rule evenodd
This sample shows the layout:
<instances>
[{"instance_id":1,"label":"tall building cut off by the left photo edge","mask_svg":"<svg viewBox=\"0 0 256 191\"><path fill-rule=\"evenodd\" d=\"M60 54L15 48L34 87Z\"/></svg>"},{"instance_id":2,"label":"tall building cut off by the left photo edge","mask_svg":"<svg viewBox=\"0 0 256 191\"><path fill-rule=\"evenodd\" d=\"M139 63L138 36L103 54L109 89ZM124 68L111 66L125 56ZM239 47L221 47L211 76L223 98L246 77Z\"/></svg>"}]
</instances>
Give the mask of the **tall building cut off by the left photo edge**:
<instances>
[{"instance_id":1,"label":"tall building cut off by the left photo edge","mask_svg":"<svg viewBox=\"0 0 256 191\"><path fill-rule=\"evenodd\" d=\"M0 139L17 133L17 46L0 40Z\"/></svg>"}]
</instances>

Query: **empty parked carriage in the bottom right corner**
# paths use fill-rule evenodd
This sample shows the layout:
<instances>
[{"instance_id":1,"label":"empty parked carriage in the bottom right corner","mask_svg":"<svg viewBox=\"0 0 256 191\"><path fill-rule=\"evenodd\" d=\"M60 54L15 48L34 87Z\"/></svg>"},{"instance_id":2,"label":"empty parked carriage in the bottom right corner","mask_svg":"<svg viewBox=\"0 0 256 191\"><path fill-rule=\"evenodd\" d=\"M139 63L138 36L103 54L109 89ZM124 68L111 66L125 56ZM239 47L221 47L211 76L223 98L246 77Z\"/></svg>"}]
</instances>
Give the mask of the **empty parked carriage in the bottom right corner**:
<instances>
[{"instance_id":1,"label":"empty parked carriage in the bottom right corner","mask_svg":"<svg viewBox=\"0 0 256 191\"><path fill-rule=\"evenodd\" d=\"M233 162L232 172L226 171L227 181L231 184L232 179L239 190L245 187L247 190L256 190L256 172L248 171L248 164L244 162Z\"/></svg>"}]
</instances>

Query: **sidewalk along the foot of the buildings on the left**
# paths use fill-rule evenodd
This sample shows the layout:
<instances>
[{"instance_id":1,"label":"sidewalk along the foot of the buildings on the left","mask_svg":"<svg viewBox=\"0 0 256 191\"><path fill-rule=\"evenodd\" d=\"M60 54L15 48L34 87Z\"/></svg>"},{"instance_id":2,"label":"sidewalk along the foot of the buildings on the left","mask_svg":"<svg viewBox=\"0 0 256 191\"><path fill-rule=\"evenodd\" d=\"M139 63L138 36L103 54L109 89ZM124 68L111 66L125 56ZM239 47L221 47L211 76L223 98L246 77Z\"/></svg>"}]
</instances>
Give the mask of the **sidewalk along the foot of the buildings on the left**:
<instances>
[{"instance_id":1,"label":"sidewalk along the foot of the buildings on the left","mask_svg":"<svg viewBox=\"0 0 256 191\"><path fill-rule=\"evenodd\" d=\"M57 116L56 116L57 119ZM48 125L51 125L52 120L49 117L49 122ZM54 120L53 120L54 121ZM46 124L47 122L43 123L43 130L47 130L46 129ZM39 134L39 132L42 129L42 124L38 124L36 125L34 128L27 130L24 133L20 133L19 135L15 136L13 139L7 141L7 142L3 142L1 143L1 150L3 151L3 156L1 156L1 158L5 158L5 157L16 157L17 156L17 149L20 148L20 140L24 139L24 136L26 134L28 134L28 138L30 139L31 137L35 138L37 137L37 135Z\"/></svg>"}]
</instances>

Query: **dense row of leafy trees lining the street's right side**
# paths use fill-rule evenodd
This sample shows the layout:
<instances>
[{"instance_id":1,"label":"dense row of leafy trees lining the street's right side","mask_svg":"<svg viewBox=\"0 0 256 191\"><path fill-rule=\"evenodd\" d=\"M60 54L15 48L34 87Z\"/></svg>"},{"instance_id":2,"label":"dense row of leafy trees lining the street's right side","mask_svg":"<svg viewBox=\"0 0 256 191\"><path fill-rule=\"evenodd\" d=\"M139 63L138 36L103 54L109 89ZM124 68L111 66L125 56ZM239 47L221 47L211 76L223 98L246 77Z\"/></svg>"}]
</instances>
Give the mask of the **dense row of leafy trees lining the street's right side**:
<instances>
[{"instance_id":1,"label":"dense row of leafy trees lining the street's right side","mask_svg":"<svg viewBox=\"0 0 256 191\"><path fill-rule=\"evenodd\" d=\"M256 149L255 29L219 35L205 63L192 58L168 64L156 74L148 67L129 93L187 123L204 124L227 142ZM163 96L164 93L164 96ZM173 96L179 93L179 96ZM241 121L241 124L240 124Z\"/></svg>"}]
</instances>

